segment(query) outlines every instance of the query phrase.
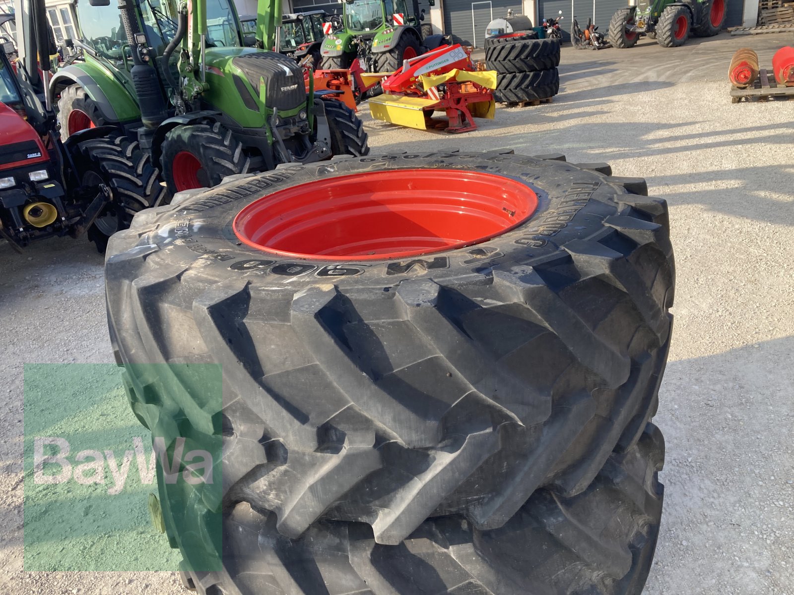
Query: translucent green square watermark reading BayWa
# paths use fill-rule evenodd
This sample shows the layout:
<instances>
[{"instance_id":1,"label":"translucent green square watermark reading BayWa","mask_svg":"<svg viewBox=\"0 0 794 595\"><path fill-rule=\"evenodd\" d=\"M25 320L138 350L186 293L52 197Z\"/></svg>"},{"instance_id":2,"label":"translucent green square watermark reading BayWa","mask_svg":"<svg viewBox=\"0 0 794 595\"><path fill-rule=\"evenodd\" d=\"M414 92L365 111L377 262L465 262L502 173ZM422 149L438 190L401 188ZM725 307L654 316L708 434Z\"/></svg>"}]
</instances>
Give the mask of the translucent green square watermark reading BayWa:
<instances>
[{"instance_id":1,"label":"translucent green square watermark reading BayWa","mask_svg":"<svg viewBox=\"0 0 794 595\"><path fill-rule=\"evenodd\" d=\"M217 364L25 364L25 570L220 570Z\"/></svg>"}]
</instances>

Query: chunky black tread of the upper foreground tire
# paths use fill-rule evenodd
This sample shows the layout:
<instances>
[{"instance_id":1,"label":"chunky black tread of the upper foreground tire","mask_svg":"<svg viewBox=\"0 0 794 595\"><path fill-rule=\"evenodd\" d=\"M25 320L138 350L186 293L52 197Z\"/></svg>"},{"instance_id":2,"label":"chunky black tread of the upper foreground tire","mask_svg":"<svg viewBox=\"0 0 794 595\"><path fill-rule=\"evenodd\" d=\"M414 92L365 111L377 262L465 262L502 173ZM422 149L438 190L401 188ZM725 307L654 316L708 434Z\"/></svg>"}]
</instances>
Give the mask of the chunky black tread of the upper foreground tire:
<instances>
[{"instance_id":1,"label":"chunky black tread of the upper foreground tire","mask_svg":"<svg viewBox=\"0 0 794 595\"><path fill-rule=\"evenodd\" d=\"M464 296L434 282L403 282L393 298L395 312L380 314L366 314L368 301L357 304L333 286L314 287L295 294L287 305L289 324L279 323L277 331L252 308L246 282L229 279L199 294L189 286L175 292L183 268L162 266L156 248L137 252L132 268L132 255L109 259L110 311L133 313L125 315L125 328L117 328L117 335L140 345L134 351L164 362L185 361L204 349L222 364L229 386L245 394L245 401L224 411L239 443L230 447L239 450L225 463L225 500L276 512L283 535L297 538L321 516L372 524L379 543L399 543L437 514L463 514L477 528L498 528L539 487L555 486L570 496L585 489L615 447L633 445L637 424L655 409L669 344L665 312L672 304L666 208L664 202L627 194L627 189L644 191L641 181L605 175L601 180L615 188L619 202L615 217L604 220L603 233L535 263L525 281L495 274L494 288L482 296L474 290ZM141 217L140 225L149 221ZM569 280L562 281L558 271L568 271ZM137 280L120 286L119 278ZM598 311L583 311L580 304L594 301L594 293L603 296L595 300L601 304ZM518 311L532 304L527 316L536 322L528 323L530 335L501 355L484 351L488 321L500 316L499 309L477 306L485 296ZM166 299L172 309L187 313L183 323L193 317L190 344L201 346L198 351L186 352L180 341L169 339L159 315L147 307ZM229 311L249 312L245 324L257 328L256 334L241 332L226 316ZM626 320L621 331L611 324L614 317ZM372 351L368 336L360 334L368 328L379 328L380 344L395 347L405 347L404 333L413 329L413 359L406 361L398 352L384 359ZM235 339L227 341L227 336ZM276 336L283 344L270 344ZM268 345L260 343L265 339ZM484 378L491 378L502 387L503 403L526 399L528 381L518 359L530 348L558 354L559 365L542 381L548 386L543 391L582 382L601 388L568 391L556 401L546 397L548 405L515 412L480 392ZM283 351L294 354L294 364L285 367L266 355L280 359ZM518 359L511 363L514 356ZM262 370L269 371L263 375ZM437 377L441 370L449 370L450 382L468 396L439 409L437 420L422 419L401 392L399 378L411 374L421 392L421 379ZM322 407L309 391L295 391L309 377L337 387L338 392L324 395ZM287 403L275 405L269 396L274 393ZM594 416L601 411L615 413ZM538 424L548 430L534 443L526 428ZM468 437L447 440L445 435ZM345 440L345 450L333 454L323 448L329 440ZM275 463L263 459L262 443L287 447L289 473L267 476ZM415 480L380 494L379 509L391 513L373 512L372 482L397 468L402 477ZM491 486L486 498L483 486ZM323 497L313 499L318 493Z\"/></svg>"}]
</instances>

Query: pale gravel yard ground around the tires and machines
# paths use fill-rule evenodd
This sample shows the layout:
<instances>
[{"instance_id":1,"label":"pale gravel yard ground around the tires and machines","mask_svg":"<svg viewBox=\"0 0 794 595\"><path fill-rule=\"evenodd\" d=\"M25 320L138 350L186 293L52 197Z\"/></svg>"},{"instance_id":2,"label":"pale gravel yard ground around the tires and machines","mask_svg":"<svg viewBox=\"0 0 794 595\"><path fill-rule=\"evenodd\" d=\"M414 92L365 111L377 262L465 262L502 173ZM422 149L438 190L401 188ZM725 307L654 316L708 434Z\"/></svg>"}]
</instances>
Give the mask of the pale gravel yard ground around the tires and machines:
<instances>
[{"instance_id":1,"label":"pale gravel yard ground around the tires and machines","mask_svg":"<svg viewBox=\"0 0 794 595\"><path fill-rule=\"evenodd\" d=\"M499 108L476 132L364 115L373 152L563 152L644 176L671 205L678 286L656 423L665 515L646 593L794 593L792 105L731 105L732 52L769 66L790 35L633 50L564 48L551 104ZM22 363L110 362L102 259L85 241L0 245L0 593L179 593L174 573L22 571Z\"/></svg>"}]
</instances>

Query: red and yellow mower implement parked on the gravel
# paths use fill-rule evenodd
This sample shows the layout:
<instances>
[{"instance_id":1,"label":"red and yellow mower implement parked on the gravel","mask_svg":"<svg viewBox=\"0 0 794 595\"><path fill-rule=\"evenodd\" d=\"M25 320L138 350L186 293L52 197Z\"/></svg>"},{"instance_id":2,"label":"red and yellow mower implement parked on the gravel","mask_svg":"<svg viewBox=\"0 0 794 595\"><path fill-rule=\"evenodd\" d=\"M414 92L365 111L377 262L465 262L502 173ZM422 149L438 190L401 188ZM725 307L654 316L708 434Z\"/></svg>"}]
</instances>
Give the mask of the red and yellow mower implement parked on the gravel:
<instances>
[{"instance_id":1,"label":"red and yellow mower implement parked on the gravel","mask_svg":"<svg viewBox=\"0 0 794 595\"><path fill-rule=\"evenodd\" d=\"M370 98L372 117L418 130L443 127L447 132L475 130L476 117L493 118L495 71L476 71L461 44L437 48L403 61L395 72L361 75L365 87L380 82L384 93ZM431 116L445 112L437 125Z\"/></svg>"}]
</instances>

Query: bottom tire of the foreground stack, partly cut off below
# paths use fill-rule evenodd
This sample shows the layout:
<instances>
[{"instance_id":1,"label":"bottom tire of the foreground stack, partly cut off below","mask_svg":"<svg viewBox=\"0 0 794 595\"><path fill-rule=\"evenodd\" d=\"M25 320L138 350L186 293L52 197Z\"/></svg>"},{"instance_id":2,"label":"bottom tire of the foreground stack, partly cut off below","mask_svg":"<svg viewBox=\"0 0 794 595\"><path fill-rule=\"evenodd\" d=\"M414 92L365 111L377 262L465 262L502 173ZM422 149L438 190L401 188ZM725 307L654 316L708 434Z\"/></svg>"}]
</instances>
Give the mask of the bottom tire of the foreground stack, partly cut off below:
<instances>
[{"instance_id":1,"label":"bottom tire of the foreground stack, partly cut off below","mask_svg":"<svg viewBox=\"0 0 794 595\"><path fill-rule=\"evenodd\" d=\"M201 595L640 593L659 530L664 452L661 432L647 424L576 496L538 490L491 531L459 516L429 519L399 546L379 545L366 525L335 521L288 539L275 515L239 504L225 516L226 570L183 581ZM263 554L262 543L273 551Z\"/></svg>"}]
</instances>

